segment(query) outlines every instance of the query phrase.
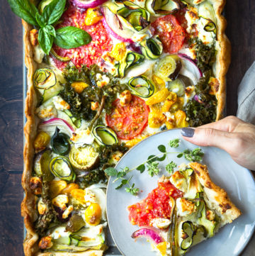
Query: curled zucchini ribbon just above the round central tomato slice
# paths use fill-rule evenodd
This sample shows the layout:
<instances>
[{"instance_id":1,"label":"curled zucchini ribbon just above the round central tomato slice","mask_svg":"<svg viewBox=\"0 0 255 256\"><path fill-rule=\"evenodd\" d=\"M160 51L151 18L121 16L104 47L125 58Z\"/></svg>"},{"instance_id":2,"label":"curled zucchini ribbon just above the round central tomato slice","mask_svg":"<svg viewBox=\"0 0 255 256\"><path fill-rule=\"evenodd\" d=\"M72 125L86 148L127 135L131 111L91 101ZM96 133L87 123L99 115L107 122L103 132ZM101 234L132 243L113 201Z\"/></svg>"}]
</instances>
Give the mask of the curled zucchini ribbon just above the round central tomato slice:
<instances>
[{"instance_id":1,"label":"curled zucchini ribbon just above the round central tomato slice","mask_svg":"<svg viewBox=\"0 0 255 256\"><path fill-rule=\"evenodd\" d=\"M128 87L132 90L132 94L142 98L149 98L154 94L155 86L145 76L132 77L128 81Z\"/></svg>"}]
</instances>

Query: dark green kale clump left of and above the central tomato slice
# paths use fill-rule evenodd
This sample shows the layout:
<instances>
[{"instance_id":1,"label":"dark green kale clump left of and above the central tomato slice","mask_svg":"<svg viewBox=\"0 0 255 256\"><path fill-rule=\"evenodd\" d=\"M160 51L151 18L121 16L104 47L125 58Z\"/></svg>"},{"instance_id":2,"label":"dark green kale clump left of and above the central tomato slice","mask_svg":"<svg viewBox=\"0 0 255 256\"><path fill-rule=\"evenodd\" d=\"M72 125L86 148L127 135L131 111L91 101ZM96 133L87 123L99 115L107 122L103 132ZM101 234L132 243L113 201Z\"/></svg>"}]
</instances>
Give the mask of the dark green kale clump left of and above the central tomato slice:
<instances>
[{"instance_id":1,"label":"dark green kale clump left of and above the central tomato slice","mask_svg":"<svg viewBox=\"0 0 255 256\"><path fill-rule=\"evenodd\" d=\"M98 87L97 74L108 77L109 82ZM96 115L96 111L91 111L91 101L97 101L100 104L103 95L106 96L104 108L109 113L117 94L127 89L126 84L120 84L112 74L102 72L96 65L91 65L89 68L83 66L80 69L68 66L64 69L64 77L67 83L64 84L64 90L60 92L60 96L70 104L70 111L76 118L84 118L86 121L91 121ZM86 87L81 94L77 94L71 86L72 82L86 82L89 87Z\"/></svg>"}]
</instances>

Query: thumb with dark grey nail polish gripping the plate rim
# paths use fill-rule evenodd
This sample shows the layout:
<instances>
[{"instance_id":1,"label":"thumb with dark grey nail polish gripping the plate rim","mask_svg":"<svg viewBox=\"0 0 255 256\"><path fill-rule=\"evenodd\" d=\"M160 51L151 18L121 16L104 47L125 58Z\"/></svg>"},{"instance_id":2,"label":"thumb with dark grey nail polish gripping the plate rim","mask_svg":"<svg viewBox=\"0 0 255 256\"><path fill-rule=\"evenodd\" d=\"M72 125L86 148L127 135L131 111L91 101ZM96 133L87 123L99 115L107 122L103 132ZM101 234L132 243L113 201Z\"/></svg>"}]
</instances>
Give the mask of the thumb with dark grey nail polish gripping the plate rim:
<instances>
[{"instance_id":1,"label":"thumb with dark grey nail polish gripping the plate rim","mask_svg":"<svg viewBox=\"0 0 255 256\"><path fill-rule=\"evenodd\" d=\"M185 140L198 146L212 146L231 151L234 133L213 128L182 128L181 135Z\"/></svg>"}]
</instances>

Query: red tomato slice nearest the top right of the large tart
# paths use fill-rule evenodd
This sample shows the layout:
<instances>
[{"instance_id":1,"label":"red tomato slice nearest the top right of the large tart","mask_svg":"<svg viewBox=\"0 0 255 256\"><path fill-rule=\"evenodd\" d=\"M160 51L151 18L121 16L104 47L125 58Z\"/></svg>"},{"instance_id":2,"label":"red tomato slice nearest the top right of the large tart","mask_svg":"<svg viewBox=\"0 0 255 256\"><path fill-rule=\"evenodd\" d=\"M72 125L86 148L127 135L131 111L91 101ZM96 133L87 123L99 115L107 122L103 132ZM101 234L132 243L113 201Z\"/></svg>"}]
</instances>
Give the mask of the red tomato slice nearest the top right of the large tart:
<instances>
[{"instance_id":1,"label":"red tomato slice nearest the top right of the large tart","mask_svg":"<svg viewBox=\"0 0 255 256\"><path fill-rule=\"evenodd\" d=\"M186 33L174 15L157 18L152 23L155 34L159 35L165 52L176 53L183 46Z\"/></svg>"}]
</instances>

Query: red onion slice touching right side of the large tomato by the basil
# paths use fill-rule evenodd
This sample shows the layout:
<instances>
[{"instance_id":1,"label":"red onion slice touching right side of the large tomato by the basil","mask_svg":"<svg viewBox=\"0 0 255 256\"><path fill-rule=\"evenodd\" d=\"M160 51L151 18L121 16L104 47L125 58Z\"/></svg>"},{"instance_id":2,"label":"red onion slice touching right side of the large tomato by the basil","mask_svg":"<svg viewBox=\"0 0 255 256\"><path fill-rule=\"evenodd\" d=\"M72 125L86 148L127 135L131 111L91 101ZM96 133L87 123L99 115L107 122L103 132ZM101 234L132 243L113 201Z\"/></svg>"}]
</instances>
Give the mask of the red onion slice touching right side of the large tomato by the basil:
<instances>
[{"instance_id":1,"label":"red onion slice touching right side of the large tomato by the basil","mask_svg":"<svg viewBox=\"0 0 255 256\"><path fill-rule=\"evenodd\" d=\"M116 14L112 13L107 6L101 7L101 12L103 13L103 26L108 30L108 33L120 41L133 43L130 38L134 32L128 28L123 28Z\"/></svg>"}]
</instances>

